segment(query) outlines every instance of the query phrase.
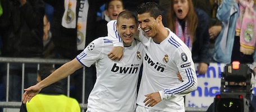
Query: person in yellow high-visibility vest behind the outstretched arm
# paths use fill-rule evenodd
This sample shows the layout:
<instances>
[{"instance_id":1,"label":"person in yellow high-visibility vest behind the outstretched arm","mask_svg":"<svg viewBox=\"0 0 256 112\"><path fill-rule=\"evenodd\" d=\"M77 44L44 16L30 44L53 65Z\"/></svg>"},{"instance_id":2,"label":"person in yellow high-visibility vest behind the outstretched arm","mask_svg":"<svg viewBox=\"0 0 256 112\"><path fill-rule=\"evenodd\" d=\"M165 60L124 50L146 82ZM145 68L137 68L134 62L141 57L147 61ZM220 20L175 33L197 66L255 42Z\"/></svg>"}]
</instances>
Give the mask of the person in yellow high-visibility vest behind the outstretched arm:
<instances>
[{"instance_id":1,"label":"person in yellow high-visibility vest behind the outstretched arm","mask_svg":"<svg viewBox=\"0 0 256 112\"><path fill-rule=\"evenodd\" d=\"M43 67L38 70L37 81L40 82L55 71L54 67ZM20 106L20 112L81 112L79 103L76 99L68 98L64 95L61 81L57 81L36 95L29 103Z\"/></svg>"}]
</instances>

